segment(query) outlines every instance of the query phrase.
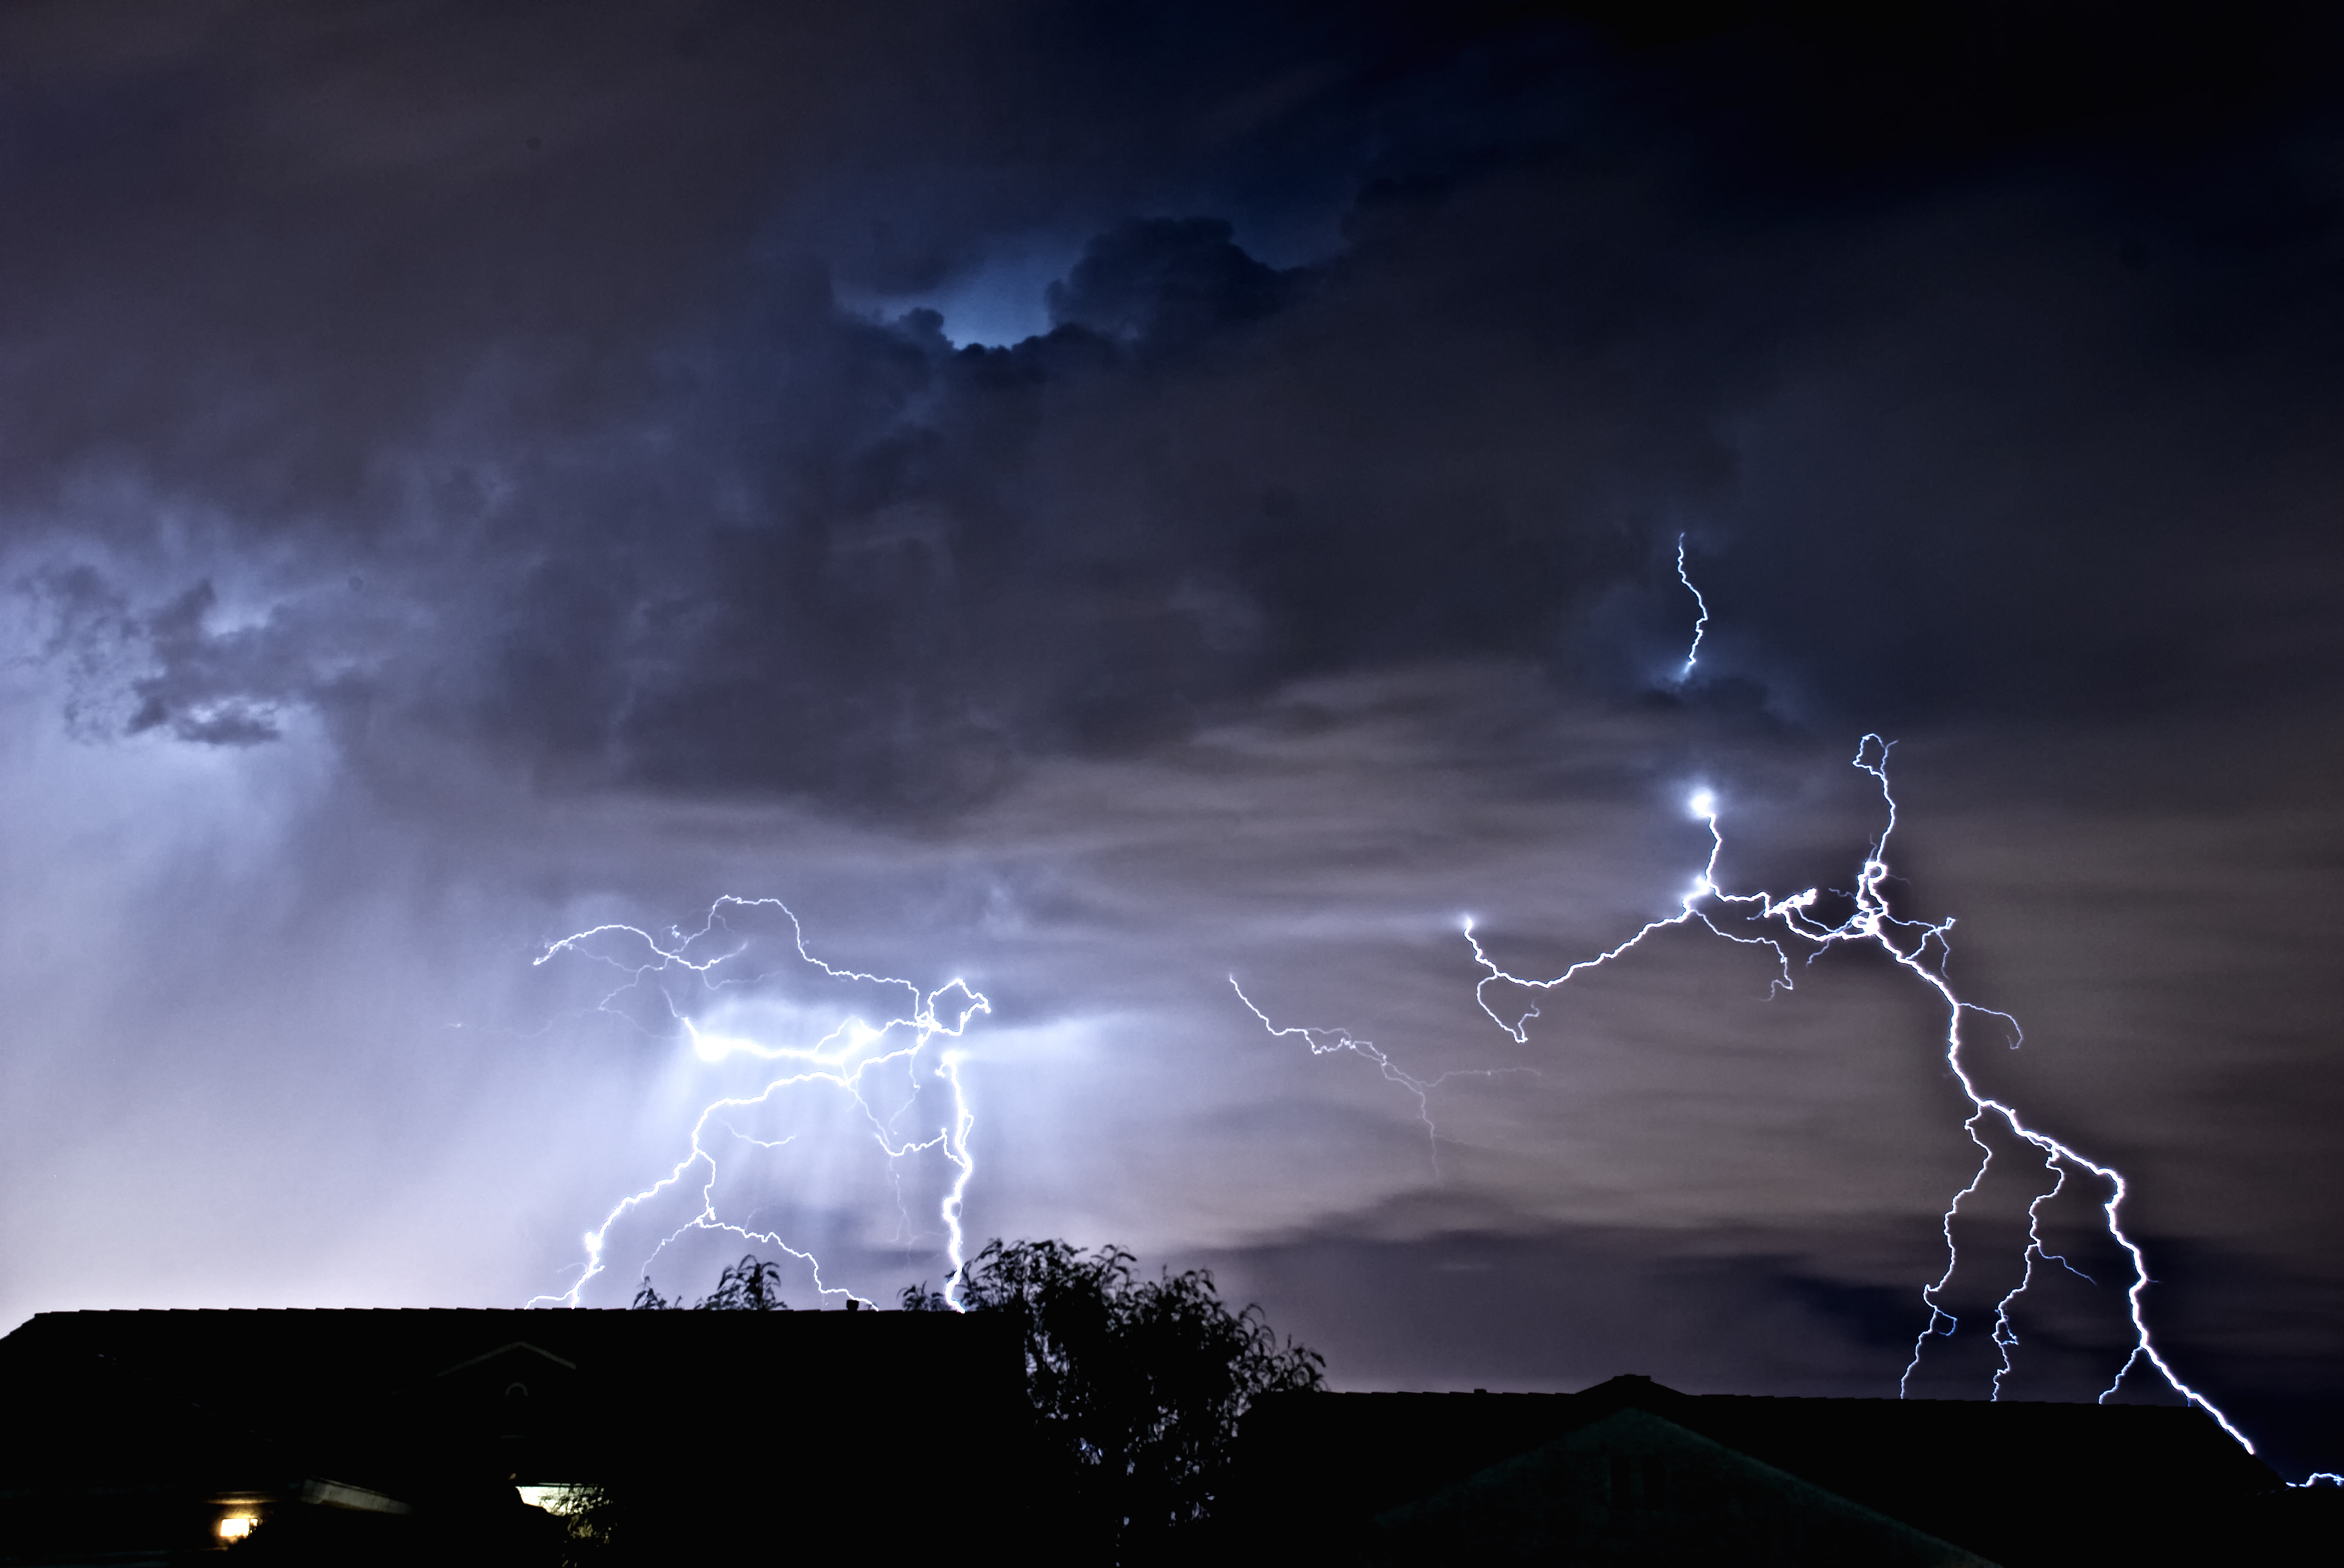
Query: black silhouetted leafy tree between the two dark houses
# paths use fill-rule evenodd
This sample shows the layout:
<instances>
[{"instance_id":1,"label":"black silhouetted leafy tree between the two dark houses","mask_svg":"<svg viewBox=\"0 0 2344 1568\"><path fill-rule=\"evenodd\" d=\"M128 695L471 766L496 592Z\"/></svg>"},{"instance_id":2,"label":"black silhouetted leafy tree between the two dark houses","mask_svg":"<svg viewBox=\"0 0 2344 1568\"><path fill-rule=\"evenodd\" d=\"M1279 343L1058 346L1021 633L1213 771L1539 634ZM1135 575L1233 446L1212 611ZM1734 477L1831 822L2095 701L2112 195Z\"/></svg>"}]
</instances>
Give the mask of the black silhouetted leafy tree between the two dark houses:
<instances>
[{"instance_id":1,"label":"black silhouetted leafy tree between the two dark houses","mask_svg":"<svg viewBox=\"0 0 2344 1568\"><path fill-rule=\"evenodd\" d=\"M956 1294L1017 1322L1043 1439L1118 1554L1210 1514L1254 1397L1324 1380L1324 1357L1280 1345L1259 1305L1233 1313L1207 1270L1139 1280L1120 1247L994 1240ZM924 1284L902 1305L952 1308Z\"/></svg>"}]
</instances>

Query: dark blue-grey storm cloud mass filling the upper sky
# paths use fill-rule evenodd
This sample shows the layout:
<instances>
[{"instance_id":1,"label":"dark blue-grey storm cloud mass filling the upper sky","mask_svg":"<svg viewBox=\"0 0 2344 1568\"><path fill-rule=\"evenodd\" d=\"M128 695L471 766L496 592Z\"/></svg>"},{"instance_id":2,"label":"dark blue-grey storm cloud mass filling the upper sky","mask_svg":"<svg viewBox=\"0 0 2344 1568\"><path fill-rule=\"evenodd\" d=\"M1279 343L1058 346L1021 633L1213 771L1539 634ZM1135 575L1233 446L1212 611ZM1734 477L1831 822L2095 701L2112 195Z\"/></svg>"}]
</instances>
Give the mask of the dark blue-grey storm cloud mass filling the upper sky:
<instances>
[{"instance_id":1,"label":"dark blue-grey storm cloud mass filling the upper sky","mask_svg":"<svg viewBox=\"0 0 2344 1568\"><path fill-rule=\"evenodd\" d=\"M12 532L113 541L129 727L860 806L1310 673L1634 694L1678 532L1718 701L2299 684L2306 26L30 12ZM1090 237L1045 338L837 302L1034 232Z\"/></svg>"}]
</instances>

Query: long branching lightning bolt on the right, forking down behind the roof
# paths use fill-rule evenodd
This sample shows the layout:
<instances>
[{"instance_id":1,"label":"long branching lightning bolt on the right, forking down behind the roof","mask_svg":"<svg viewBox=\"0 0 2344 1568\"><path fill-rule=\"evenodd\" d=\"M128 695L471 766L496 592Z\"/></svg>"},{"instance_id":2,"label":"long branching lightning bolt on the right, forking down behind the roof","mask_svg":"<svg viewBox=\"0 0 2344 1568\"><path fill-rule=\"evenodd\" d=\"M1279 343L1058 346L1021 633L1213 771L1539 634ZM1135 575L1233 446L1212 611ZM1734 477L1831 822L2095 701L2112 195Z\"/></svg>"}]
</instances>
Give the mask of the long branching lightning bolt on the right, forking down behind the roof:
<instances>
[{"instance_id":1,"label":"long branching lightning bolt on the right, forking down behind the roof","mask_svg":"<svg viewBox=\"0 0 2344 1568\"><path fill-rule=\"evenodd\" d=\"M1685 577L1683 537L1678 537L1676 544L1676 574L1685 584L1685 588L1692 588L1690 577ZM1702 605L1702 626L1706 626L1709 605L1699 598L1697 588L1692 588L1692 593L1695 600ZM1692 656L1695 652L1699 652L1699 633L1702 628L1695 626L1692 649L1685 654L1688 675L1692 670ZM2053 1184L2049 1191L2039 1193L2028 1205L2028 1247L2023 1259L2025 1268L2018 1277L2018 1284L2011 1287L1995 1305L1992 1341L1999 1357L1999 1366L1995 1369L1992 1395L1995 1397L2002 1395L2002 1380L2011 1371L2011 1350L2018 1345L2018 1334L2011 1327L2011 1308L2035 1282L2037 1263L2060 1263L2065 1268L2072 1268L2063 1256L2044 1247L2042 1205L2056 1198L2060 1191L2065 1191L2070 1172L2089 1172L2105 1186L2107 1193L2105 1202L2100 1205L2100 1212L2107 1221L2107 1235L2124 1252L2124 1256L2131 1261L2133 1268L2133 1282L2124 1294L2126 1315L2133 1327L2133 1345L2131 1352L2124 1357L2124 1364L2117 1369L2117 1376L2100 1392L2100 1399L2105 1402L2110 1395L2114 1395L2124 1385L2124 1378L2131 1376L2135 1366L2147 1364L2166 1380L2166 1385L2173 1392L2182 1395L2189 1404L2213 1416L2224 1432L2229 1432L2234 1439L2239 1439L2241 1446L2246 1446L2248 1453L2253 1453L2255 1444L2248 1441L2248 1437L2236 1425L2231 1425L2229 1416L2215 1409L2215 1404L2206 1399L2206 1395L2182 1383L2180 1373L2173 1371L2173 1366L2156 1350L2156 1343L2149 1336L2149 1324L2142 1308L2142 1294L2149 1287L2149 1266L2145 1254L2140 1252L2140 1245L2133 1242L2133 1238L2124 1230L2124 1223L2119 1219L2119 1209L2124 1207L2124 1198L2128 1193L2124 1174L2112 1165L2103 1165L2098 1160L2077 1153L2072 1146L2063 1144L2049 1132L2028 1125L2016 1106L1981 1092L1978 1083L1969 1073L1969 1066L1962 1062L1962 1045L1967 1043L1962 1034L1964 1024L1992 1020L1997 1027L2006 1029L2009 1045L2013 1050L2023 1043L2025 1036L2018 1029L2018 1020L2013 1020L2009 1013L1997 1013L1992 1008L1962 1001L1955 994L1953 982L1946 977L1946 959L1950 954L1950 933L1953 933L1950 916L1934 923L1913 921L1896 916L1889 907L1889 898L1885 891L1889 879L1887 846L1889 837L1896 832L1896 797L1889 790L1887 757L1889 757L1889 743L1882 741L1878 734L1863 736L1863 741L1856 745L1854 766L1871 773L1873 780L1880 785L1880 799L1887 806L1887 823L1880 827L1880 837L1873 839L1871 853L1863 858L1863 870L1856 874L1856 886L1854 893L1849 895L1854 909L1847 914L1847 919L1838 923L1826 923L1814 914L1817 902L1821 898L1819 888L1807 888L1788 898L1774 898L1770 893L1728 893L1718 884L1718 858L1725 853L1725 834L1718 827L1718 799L1713 790L1704 788L1697 790L1685 804L1692 811L1692 816L1702 818L1709 825L1709 860L1702 865L1699 877L1692 879L1692 886L1685 888L1683 898L1678 898L1676 914L1648 921L1629 940L1620 942L1617 947L1603 954L1596 954L1594 959L1582 959L1573 963L1552 980L1524 980L1521 975L1512 975L1498 968L1498 963L1484 952L1481 940L1474 935L1472 921L1467 919L1465 942L1472 947L1474 963L1479 963L1484 970L1481 980L1474 984L1474 1001L1479 1001L1481 1013L1486 1013L1491 1022L1505 1029L1517 1043L1528 1041L1528 1022L1538 1017L1538 1008L1533 1005L1512 1022L1507 1022L1491 1005L1488 987L1493 982L1505 982L1531 991L1552 991L1592 968L1601 968L1606 963L1622 959L1655 930L1664 930L1671 926L1699 923L1702 928L1730 942L1758 945L1772 949L1779 966L1779 975L1770 982L1770 994L1772 989L1791 989L1793 984L1791 947L1786 947L1786 942L1805 945L1810 949L1807 952L1810 963L1831 947L1842 947L1842 945L1878 947L1880 952L1889 954L1889 959L1894 959L1906 973L1910 973L1931 991L1936 991L1938 1001L1943 1001L1946 1066L1953 1071L1955 1080L1962 1085L1962 1095L1969 1099L1969 1116L1964 1118L1962 1130L1978 1146L1976 1174L1969 1179L1969 1186L1964 1186L1960 1193L1953 1195L1953 1202L1946 1207L1943 1214L1941 1230L1946 1235L1946 1270L1931 1284L1922 1287L1922 1303L1929 1308L1929 1320L1913 1341L1913 1359L1906 1364L1903 1378L1899 1378L1896 1383L1899 1392L1903 1392L1910 1385L1913 1371L1920 1366L1929 1338L1948 1336L1955 1329L1957 1320L1941 1305L1941 1296L1946 1287L1953 1282L1955 1268L1960 1266L1960 1252L1953 1240L1953 1223L1955 1216L1960 1214L1962 1200L1971 1198L1978 1191L1995 1160L1995 1151L1981 1134L1981 1127L1999 1120L2004 1127L2009 1127L2013 1137L2023 1139L2044 1155L2044 1165L2051 1170ZM1779 938L1746 935L1728 930L1725 926L1718 923L1720 919L1739 923L1744 926L1744 930L1751 926L1772 926L1781 935Z\"/></svg>"}]
</instances>

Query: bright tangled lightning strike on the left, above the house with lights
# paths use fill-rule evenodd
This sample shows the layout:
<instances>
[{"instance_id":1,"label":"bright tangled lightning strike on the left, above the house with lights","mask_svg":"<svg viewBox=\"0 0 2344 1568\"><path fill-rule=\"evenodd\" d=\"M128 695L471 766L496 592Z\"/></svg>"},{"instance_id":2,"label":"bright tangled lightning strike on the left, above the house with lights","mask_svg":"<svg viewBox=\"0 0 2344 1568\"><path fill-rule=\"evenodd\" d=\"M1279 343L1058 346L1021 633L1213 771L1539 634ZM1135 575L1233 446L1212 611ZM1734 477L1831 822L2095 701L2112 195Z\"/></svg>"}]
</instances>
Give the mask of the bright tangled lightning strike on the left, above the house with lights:
<instances>
[{"instance_id":1,"label":"bright tangled lightning strike on the left, above the house with lights","mask_svg":"<svg viewBox=\"0 0 2344 1568\"><path fill-rule=\"evenodd\" d=\"M968 1132L975 1125L975 1118L973 1118L973 1113L968 1109L968 1095L966 1095L966 1090L961 1085L959 1055L947 1048L947 1050L933 1052L933 1062L924 1062L924 1059L928 1057L931 1041L935 1041L938 1036L942 1036L942 1038L959 1038L966 1031L970 1017L975 1017L977 1013L992 1013L992 1005L984 1001L982 994L968 989L968 984L963 980L959 980L959 977L947 980L945 984L940 984L933 991L921 991L909 980L895 980L895 977L888 977L888 975L865 975L860 970L846 970L846 968L837 968L832 963L825 963L823 959L816 959L811 952L806 952L806 933L804 933L804 926L797 919L797 912L792 912L778 898L734 898L734 895L724 895L715 905L710 905L708 921L696 933L691 933L691 935L670 933L673 935L673 945L668 945L668 947L663 947L659 940L654 940L649 933L645 933L645 930L640 930L635 926L619 926L619 923L593 926L588 930L579 930L574 935L567 935L567 938L548 945L546 952L534 959L534 963L541 966L541 963L556 959L558 954L584 954L584 956L598 959L602 963L612 963L614 968L624 970L628 975L626 982L619 984L619 987L614 987L598 1003L605 1010L624 991L631 991L631 989L640 987L645 980L649 980L652 975L661 975L661 973L675 973L675 970L687 973L687 975L691 975L694 984L699 984L703 989L710 989L710 991L715 991L720 987L738 987L738 984L748 984L752 980L762 980L762 975L750 977L750 980L717 980L715 977L717 970L724 963L729 963L736 956L741 956L743 949L738 945L734 949L729 949L729 952L720 952L720 954L708 956L708 959L694 959L691 956L691 947L696 942L703 942L703 940L708 940L708 938L713 938L717 933L717 928L724 923L724 912L727 909L778 909L783 916L788 916L790 930L792 930L792 938L795 938L795 947L797 947L797 956L806 966L820 970L830 980L853 980L853 982L865 982L865 984L877 984L877 987L888 987L888 989L902 989L902 994L909 998L907 1008L905 1008L905 1013L900 1013L895 1017L888 1017L881 1024L872 1024L872 1022L865 1022L863 1017L849 1015L841 1024L837 1024L830 1034L825 1034L823 1038L813 1041L811 1045L762 1045L762 1043L750 1041L750 1038L729 1036L729 1034L713 1034L713 1031L701 1029L699 1022L694 1022L689 1015L680 1013L675 1008L675 998L668 996L666 998L668 1001L668 1013L682 1024L684 1038L691 1041L694 1055L699 1055L703 1062L722 1062L724 1057L731 1057L731 1055L750 1055L750 1057L759 1057L759 1059L769 1059L769 1062L790 1062L790 1064L797 1064L797 1071L788 1071L788 1073L783 1073L778 1078L771 1078L755 1095L729 1095L729 1097L710 1102L699 1113L699 1120L694 1120L694 1125L691 1125L691 1146L689 1146L689 1153L684 1153L684 1158L680 1158L675 1163L675 1167L666 1177L661 1177L652 1186L647 1186L647 1188L642 1188L638 1193L631 1193L631 1195L621 1198L616 1205L612 1205L609 1214L602 1216L602 1223L598 1223L593 1230L586 1233L586 1238L584 1238L584 1242L586 1242L586 1266L584 1266L584 1273L577 1277L577 1282L567 1291L563 1291L558 1296L537 1296L530 1305L579 1305L579 1291L591 1280L595 1280L600 1273L605 1273L605 1268L607 1268L605 1249L609 1245L609 1230L612 1230L612 1226L616 1226L621 1219L626 1219L628 1214L633 1214L642 1205L652 1202L654 1198L659 1198L668 1188L682 1188L687 1184L689 1172L694 1172L696 1167L706 1172L706 1177L701 1179L701 1207L699 1207L699 1212L691 1219L687 1219L682 1226L677 1226L675 1230L670 1230L649 1252L649 1256L642 1259L642 1270L645 1273L649 1273L652 1261L661 1252L666 1252L666 1247L670 1242L675 1242L677 1238L682 1238L687 1230L722 1230L722 1233L729 1233L729 1235L738 1235L745 1242L762 1242L762 1245L769 1245L769 1247L778 1247L781 1252L790 1254L792 1259L806 1263L811 1268L811 1273L813 1273L813 1284L820 1291L820 1296L825 1296L825 1298L827 1296L844 1296L849 1301L858 1301L858 1303L867 1305L867 1301L863 1296L856 1296L851 1289L837 1287L837 1284L827 1284L823 1280L820 1259L816 1259L811 1252L792 1247L788 1240L783 1240L781 1235L776 1235L771 1230L755 1230L750 1226L729 1221L729 1219L724 1219L724 1216L717 1214L715 1184L717 1184L717 1177L720 1177L720 1163L717 1163L717 1153L706 1141L706 1134L710 1132L710 1127L724 1127L727 1132L731 1132L741 1141L748 1141L748 1144L759 1146L759 1148L774 1148L778 1144L785 1144L788 1139L771 1139L771 1141L766 1141L766 1139L752 1139L752 1137L734 1130L729 1125L729 1120L727 1120L727 1113L748 1111L752 1106L762 1106L762 1104L771 1102L776 1095L781 1095L785 1090L792 1090L792 1088L799 1088L799 1085L820 1083L820 1085L830 1085L834 1090L841 1090L841 1092L846 1092L853 1099L853 1104L870 1120L870 1134L879 1144L879 1148L886 1153L888 1163L895 1163L895 1160L902 1160L902 1158L909 1158L909 1155L917 1155L917 1153L926 1153L926 1151L935 1151L935 1153L940 1153L949 1163L949 1167L952 1167L952 1181L945 1188L938 1216L940 1216L940 1221L945 1226L945 1256L947 1256L947 1263L949 1263L945 1296L954 1305L954 1310L959 1310L956 1289L959 1289L961 1254L963 1254L963 1242L966 1242L966 1238L961 1233L961 1209L963 1209L966 1198L968 1198L968 1181L975 1177L975 1160L970 1158L970 1151L968 1151ZM609 959L609 956L602 956L602 954L595 954L595 952L588 949L588 945L595 942L598 938L619 938L619 940L626 940L626 942L640 942L642 947L649 949L649 956L642 959L640 963L633 963L633 966L621 963L619 959ZM898 1137L898 1132L893 1130L893 1123L900 1118L900 1111L895 1116L881 1116L879 1106L872 1106L872 1102L865 1097L870 1076L877 1069L884 1069L884 1066L900 1066L912 1078L914 1085L919 1083L921 1073L926 1071L928 1080L940 1083L947 1090L949 1113L942 1118L942 1125L938 1125L931 1137L924 1137L924 1139L921 1137Z\"/></svg>"}]
</instances>

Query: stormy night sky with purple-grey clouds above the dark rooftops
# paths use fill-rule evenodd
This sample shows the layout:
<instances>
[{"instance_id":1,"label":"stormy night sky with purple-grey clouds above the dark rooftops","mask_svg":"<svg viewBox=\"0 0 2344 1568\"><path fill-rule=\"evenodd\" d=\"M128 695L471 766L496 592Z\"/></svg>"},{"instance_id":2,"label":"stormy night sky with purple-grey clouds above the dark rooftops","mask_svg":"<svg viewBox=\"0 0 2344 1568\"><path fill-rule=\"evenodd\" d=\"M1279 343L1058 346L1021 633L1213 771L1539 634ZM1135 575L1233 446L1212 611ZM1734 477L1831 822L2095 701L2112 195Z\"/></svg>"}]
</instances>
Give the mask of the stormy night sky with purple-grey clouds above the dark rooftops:
<instances>
[{"instance_id":1,"label":"stormy night sky with purple-grey clouds above the dark rooftops","mask_svg":"<svg viewBox=\"0 0 2344 1568\"><path fill-rule=\"evenodd\" d=\"M0 1327L572 1291L902 1010L677 947L736 895L992 1003L703 1127L825 1284L940 1282L949 1045L973 1242L1336 1388L1892 1395L1934 991L1667 928L1517 1043L1463 933L1674 914L1695 790L1840 919L1878 734L1964 1062L2344 1470L2339 506L2332 7L7 7ZM1990 1390L1990 1141L1915 1395ZM577 1298L713 1284L703 1181ZM2124 1362L2105 1198L2009 1397Z\"/></svg>"}]
</instances>

